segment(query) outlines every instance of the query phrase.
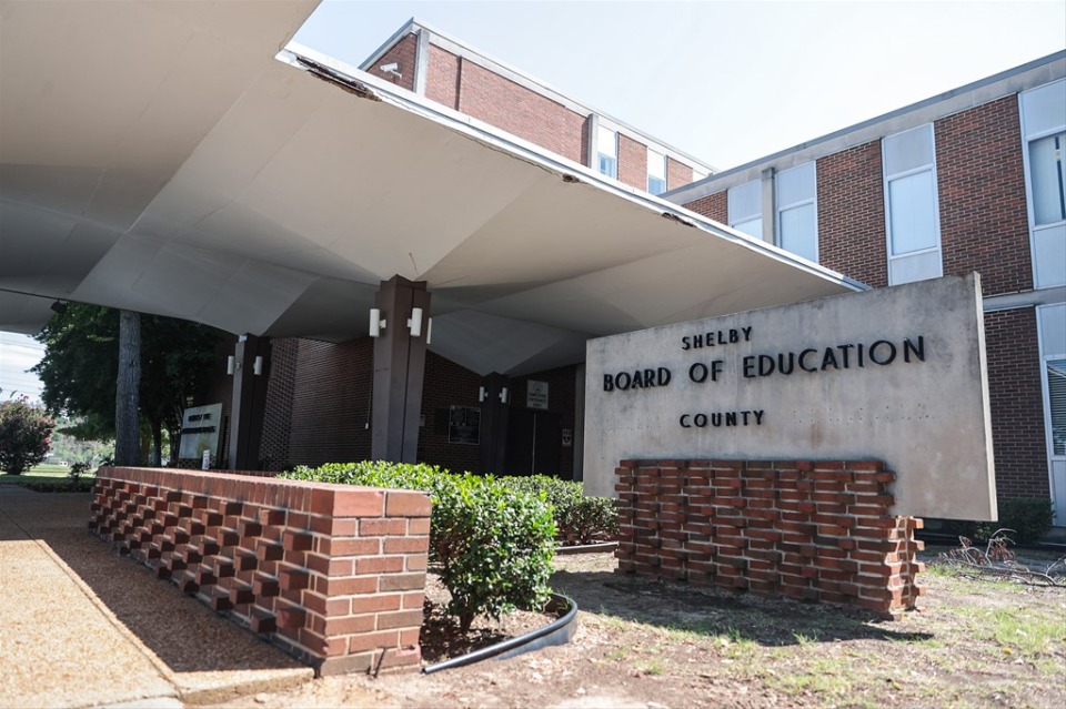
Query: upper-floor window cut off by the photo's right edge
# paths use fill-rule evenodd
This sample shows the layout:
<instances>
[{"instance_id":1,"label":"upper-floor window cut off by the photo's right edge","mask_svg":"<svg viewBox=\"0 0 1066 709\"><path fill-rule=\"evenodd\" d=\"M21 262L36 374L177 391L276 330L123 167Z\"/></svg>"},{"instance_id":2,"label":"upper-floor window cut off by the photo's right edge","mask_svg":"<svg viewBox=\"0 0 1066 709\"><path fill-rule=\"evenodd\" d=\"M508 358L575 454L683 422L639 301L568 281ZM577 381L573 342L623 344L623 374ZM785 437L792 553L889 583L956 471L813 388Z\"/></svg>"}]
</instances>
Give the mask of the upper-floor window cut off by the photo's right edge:
<instances>
[{"instance_id":1,"label":"upper-floor window cut off by the photo's right edge","mask_svg":"<svg viewBox=\"0 0 1066 709\"><path fill-rule=\"evenodd\" d=\"M1033 283L1066 284L1066 81L1020 94Z\"/></svg>"}]
</instances>

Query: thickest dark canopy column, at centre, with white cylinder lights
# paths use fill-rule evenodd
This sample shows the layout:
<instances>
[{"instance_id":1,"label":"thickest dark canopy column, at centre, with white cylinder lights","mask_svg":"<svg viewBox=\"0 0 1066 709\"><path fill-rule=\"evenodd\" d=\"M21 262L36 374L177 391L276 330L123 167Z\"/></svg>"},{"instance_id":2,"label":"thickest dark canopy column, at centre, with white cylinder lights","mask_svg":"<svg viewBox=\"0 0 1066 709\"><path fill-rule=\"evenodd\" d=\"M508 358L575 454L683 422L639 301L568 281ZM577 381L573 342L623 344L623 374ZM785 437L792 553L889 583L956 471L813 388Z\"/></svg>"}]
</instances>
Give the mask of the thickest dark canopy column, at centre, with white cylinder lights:
<instances>
[{"instance_id":1,"label":"thickest dark canopy column, at centre, with white cylinder lights","mask_svg":"<svg viewBox=\"0 0 1066 709\"><path fill-rule=\"evenodd\" d=\"M414 463L430 332L430 294L424 281L382 281L374 307L385 325L374 341L374 403L370 452L374 460ZM412 334L411 313L421 308L421 333Z\"/></svg>"}]
</instances>

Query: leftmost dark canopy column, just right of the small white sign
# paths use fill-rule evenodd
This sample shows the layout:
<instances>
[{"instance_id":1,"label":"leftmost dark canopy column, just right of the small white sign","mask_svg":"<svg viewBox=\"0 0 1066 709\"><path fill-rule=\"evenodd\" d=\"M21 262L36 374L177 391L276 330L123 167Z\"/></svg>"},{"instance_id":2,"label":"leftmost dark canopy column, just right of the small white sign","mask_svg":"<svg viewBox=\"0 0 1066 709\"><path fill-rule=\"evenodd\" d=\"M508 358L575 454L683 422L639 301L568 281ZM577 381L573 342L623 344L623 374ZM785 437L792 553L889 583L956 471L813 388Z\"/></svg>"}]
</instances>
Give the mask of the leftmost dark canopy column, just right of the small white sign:
<instances>
[{"instance_id":1,"label":"leftmost dark canopy column, just right of the small white sign","mask_svg":"<svg viewBox=\"0 0 1066 709\"><path fill-rule=\"evenodd\" d=\"M258 470L270 382L270 338L241 335L233 353L228 463L231 470Z\"/></svg>"}]
</instances>

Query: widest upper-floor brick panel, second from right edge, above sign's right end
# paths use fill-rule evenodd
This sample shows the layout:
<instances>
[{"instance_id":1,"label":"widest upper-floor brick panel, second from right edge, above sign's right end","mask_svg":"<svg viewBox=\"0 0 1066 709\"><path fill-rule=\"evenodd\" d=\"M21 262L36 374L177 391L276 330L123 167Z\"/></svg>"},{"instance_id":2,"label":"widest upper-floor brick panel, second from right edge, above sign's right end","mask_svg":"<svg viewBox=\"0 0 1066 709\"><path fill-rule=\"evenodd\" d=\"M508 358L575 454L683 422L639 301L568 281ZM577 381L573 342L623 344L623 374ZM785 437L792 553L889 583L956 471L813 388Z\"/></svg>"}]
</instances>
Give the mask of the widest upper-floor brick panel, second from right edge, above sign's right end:
<instances>
[{"instance_id":1,"label":"widest upper-floor brick panel, second from right edge, above sign's right end","mask_svg":"<svg viewBox=\"0 0 1066 709\"><path fill-rule=\"evenodd\" d=\"M934 134L944 274L977 271L985 295L1032 288L1017 97L939 120Z\"/></svg>"}]
</instances>

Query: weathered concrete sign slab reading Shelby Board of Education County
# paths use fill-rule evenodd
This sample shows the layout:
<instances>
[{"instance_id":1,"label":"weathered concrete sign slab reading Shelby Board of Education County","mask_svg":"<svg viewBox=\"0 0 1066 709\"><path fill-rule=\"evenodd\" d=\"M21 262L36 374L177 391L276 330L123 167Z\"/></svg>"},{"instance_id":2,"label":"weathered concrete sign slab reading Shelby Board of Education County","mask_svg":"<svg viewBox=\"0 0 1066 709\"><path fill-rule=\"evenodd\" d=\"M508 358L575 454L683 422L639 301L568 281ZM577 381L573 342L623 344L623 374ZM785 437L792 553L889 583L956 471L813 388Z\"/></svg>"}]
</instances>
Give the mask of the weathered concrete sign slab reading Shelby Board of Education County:
<instances>
[{"instance_id":1,"label":"weathered concrete sign slab reading Shelby Board of Education County","mask_svg":"<svg viewBox=\"0 0 1066 709\"><path fill-rule=\"evenodd\" d=\"M622 459L879 459L897 515L995 519L980 281L589 342L585 492Z\"/></svg>"}]
</instances>

